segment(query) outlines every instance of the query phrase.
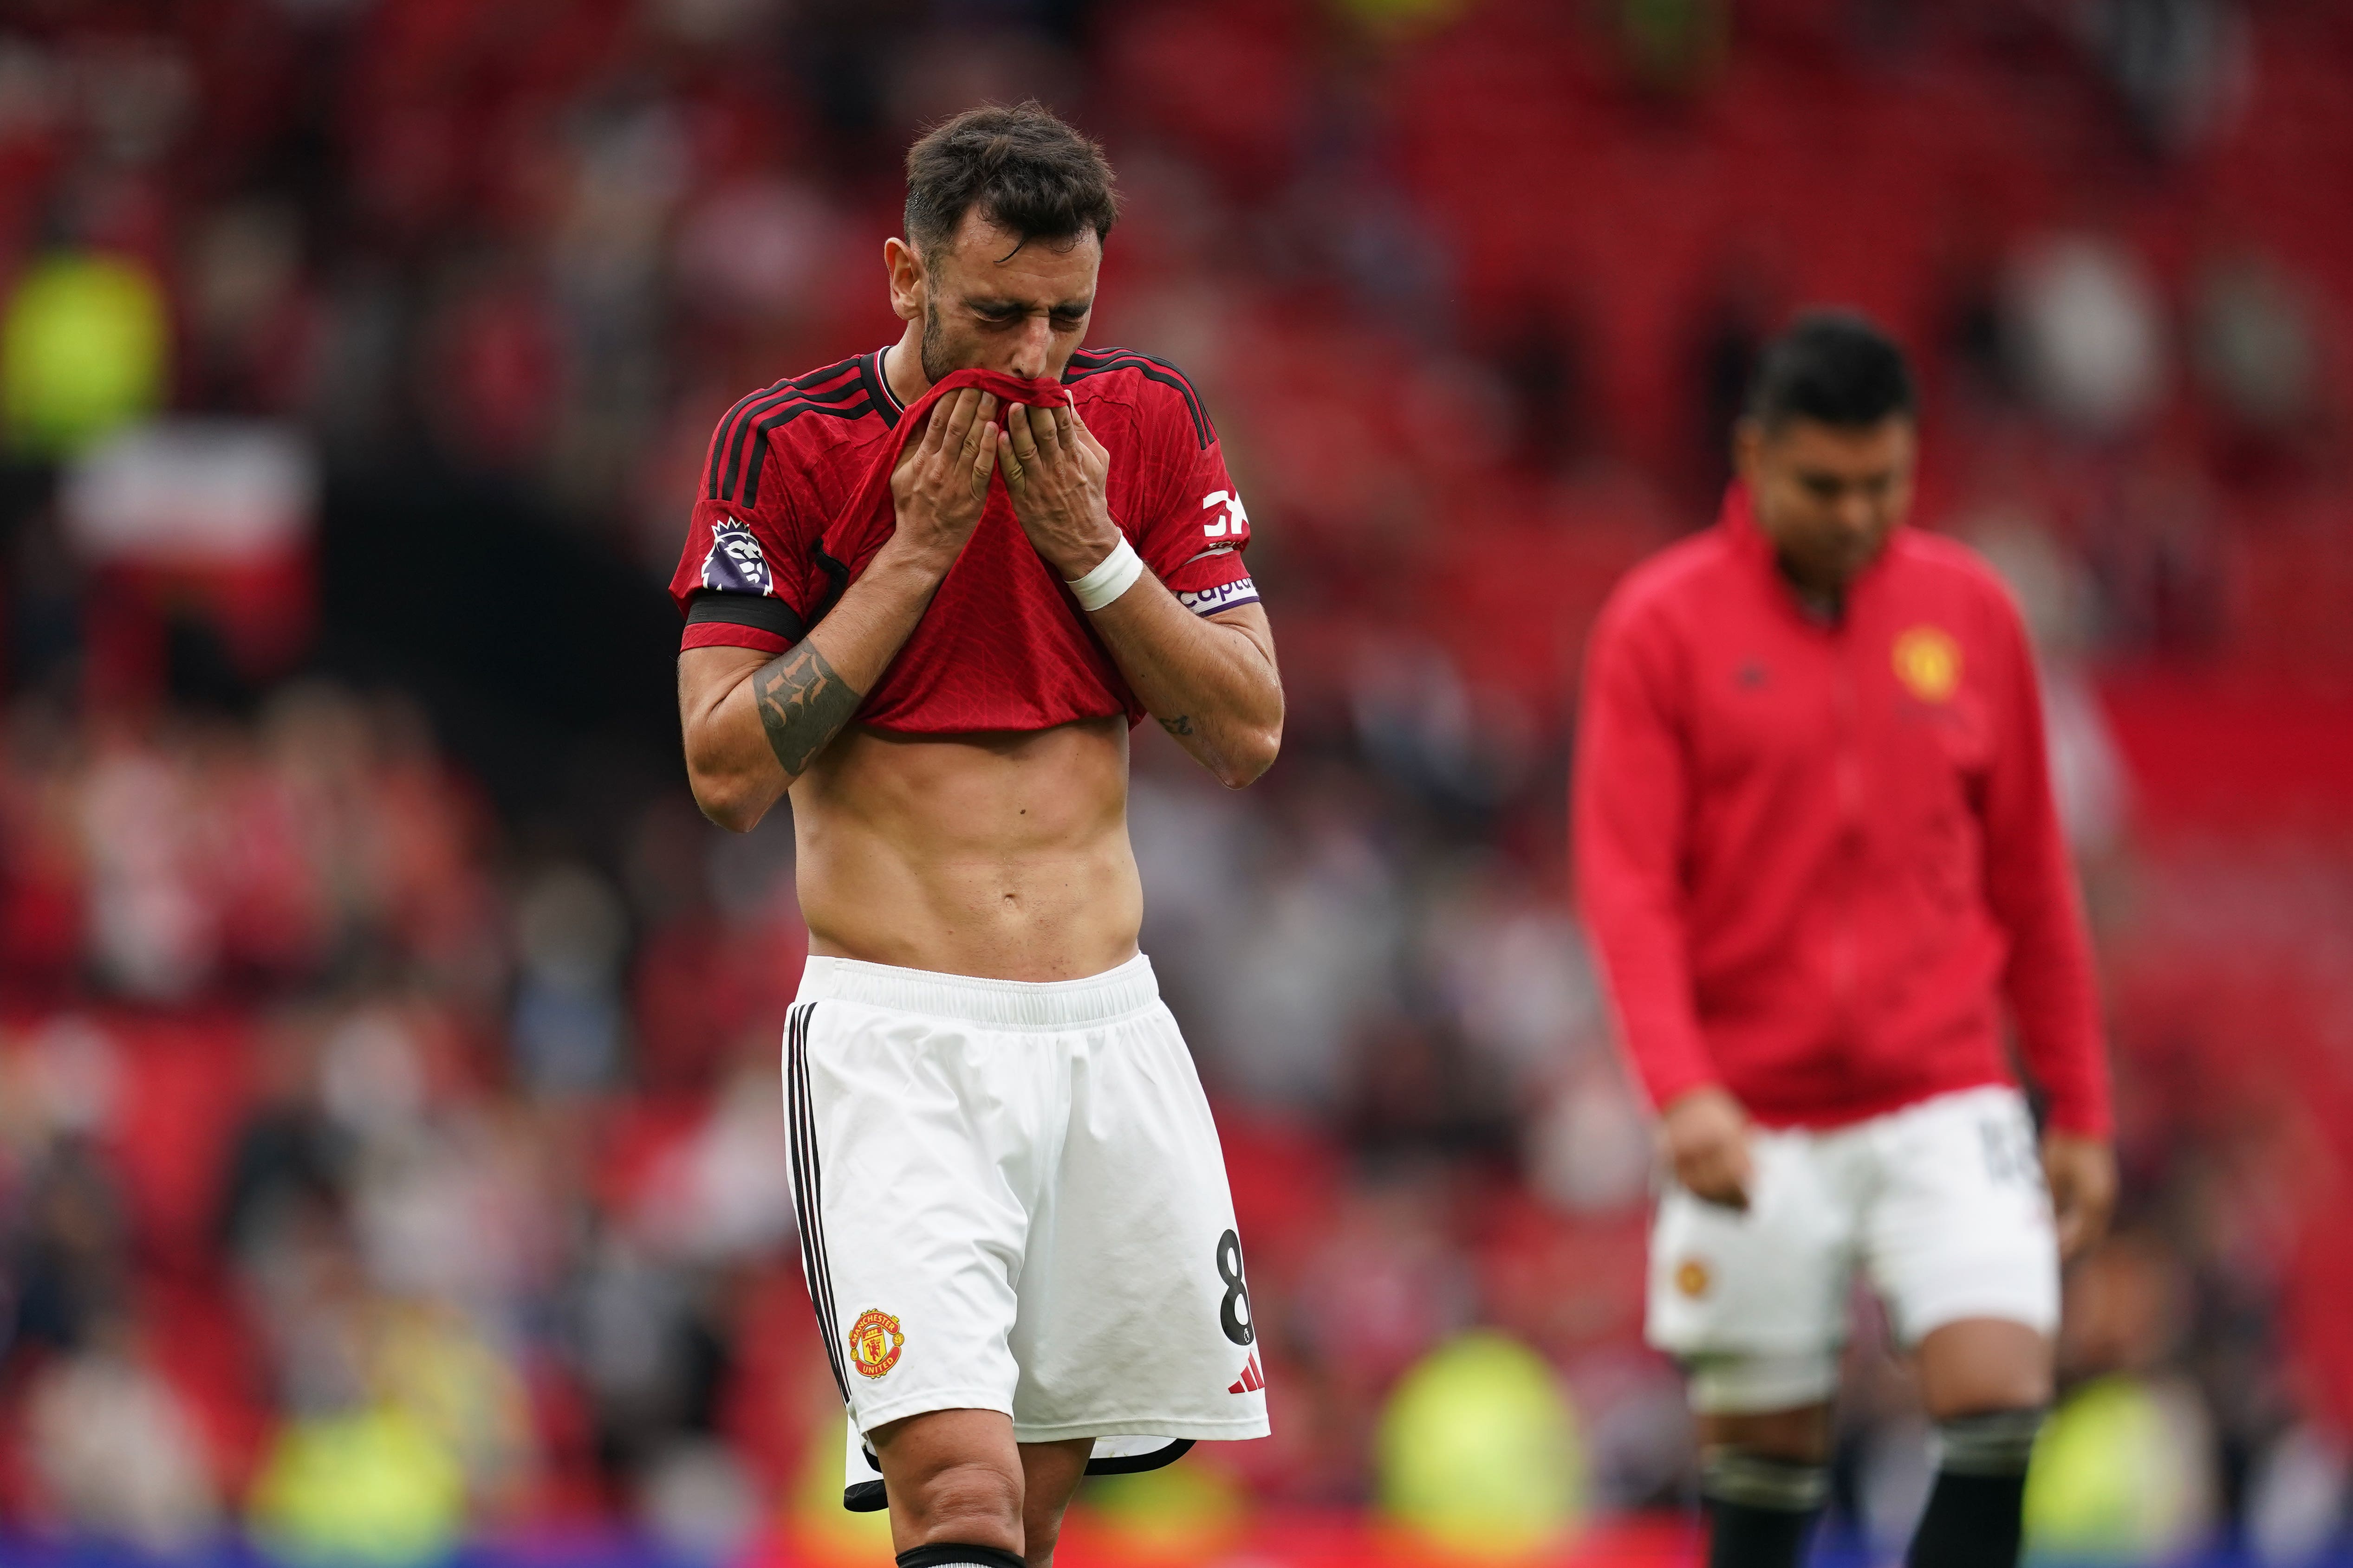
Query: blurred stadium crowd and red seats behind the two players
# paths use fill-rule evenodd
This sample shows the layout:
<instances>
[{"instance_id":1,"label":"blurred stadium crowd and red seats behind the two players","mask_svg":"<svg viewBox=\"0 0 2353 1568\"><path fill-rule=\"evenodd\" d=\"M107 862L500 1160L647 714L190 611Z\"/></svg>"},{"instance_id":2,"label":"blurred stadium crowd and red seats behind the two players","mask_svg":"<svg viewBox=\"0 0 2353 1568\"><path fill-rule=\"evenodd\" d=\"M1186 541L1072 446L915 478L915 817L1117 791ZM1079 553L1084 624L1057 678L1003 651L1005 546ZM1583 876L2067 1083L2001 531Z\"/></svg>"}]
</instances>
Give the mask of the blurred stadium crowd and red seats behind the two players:
<instances>
[{"instance_id":1,"label":"blurred stadium crowd and red seats behind the two players","mask_svg":"<svg viewBox=\"0 0 2353 1568\"><path fill-rule=\"evenodd\" d=\"M2031 1514L2344 1544L2353 818L2172 813L2134 738L2353 677L2348 71L2322 0L7 7L0 1533L720 1556L828 1507L788 823L600 750L593 827L534 811L452 741L544 733L527 693L384 679L473 635L433 609L315 649L365 614L336 559L449 531L518 604L579 562L659 604L713 418L896 334L911 127L1038 94L1120 167L1092 336L1207 390L1292 693L1247 795L1136 745L1278 1427L1188 1467L1377 1500L1400 1378L1494 1328L1588 1509L1687 1495L1565 900L1574 677L1711 517L1755 346L1835 299L1915 348L1925 520L2035 625L2111 987L2127 1204ZM416 475L447 515L376 501ZM1840 1514L1901 1540L1880 1340Z\"/></svg>"}]
</instances>

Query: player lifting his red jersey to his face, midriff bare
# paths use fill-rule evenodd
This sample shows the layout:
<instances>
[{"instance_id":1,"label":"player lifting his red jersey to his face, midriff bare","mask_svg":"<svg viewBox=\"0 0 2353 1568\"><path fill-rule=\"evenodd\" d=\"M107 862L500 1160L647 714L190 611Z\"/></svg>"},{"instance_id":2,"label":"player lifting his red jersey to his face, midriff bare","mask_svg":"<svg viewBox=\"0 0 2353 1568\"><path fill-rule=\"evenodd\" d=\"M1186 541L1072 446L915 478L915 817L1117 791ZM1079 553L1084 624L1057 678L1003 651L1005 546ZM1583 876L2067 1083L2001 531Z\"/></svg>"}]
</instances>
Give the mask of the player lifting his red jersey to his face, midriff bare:
<instances>
[{"instance_id":1,"label":"player lifting his red jersey to his face, midriff bare","mask_svg":"<svg viewBox=\"0 0 2353 1568\"><path fill-rule=\"evenodd\" d=\"M887 348L720 421L673 595L694 799L793 799L802 1267L899 1563L1047 1563L1089 1469L1266 1434L1217 1128L1136 952L1127 736L1282 736L1193 386L1082 350L1118 214L1035 103L906 160ZM864 1439L864 1441L861 1441Z\"/></svg>"}]
</instances>

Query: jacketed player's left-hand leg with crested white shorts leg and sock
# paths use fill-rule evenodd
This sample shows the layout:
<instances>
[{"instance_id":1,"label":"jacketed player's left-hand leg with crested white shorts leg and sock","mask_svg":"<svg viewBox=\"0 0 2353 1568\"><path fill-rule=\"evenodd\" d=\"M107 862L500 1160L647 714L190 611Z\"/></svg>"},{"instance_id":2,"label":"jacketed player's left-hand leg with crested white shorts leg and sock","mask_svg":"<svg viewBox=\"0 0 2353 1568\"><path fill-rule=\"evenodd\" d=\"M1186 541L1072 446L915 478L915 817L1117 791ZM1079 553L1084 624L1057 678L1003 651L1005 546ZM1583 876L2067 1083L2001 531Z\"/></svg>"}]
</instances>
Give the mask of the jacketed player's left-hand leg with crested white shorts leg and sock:
<instances>
[{"instance_id":1,"label":"jacketed player's left-hand leg with crested white shorts leg and sock","mask_svg":"<svg viewBox=\"0 0 2353 1568\"><path fill-rule=\"evenodd\" d=\"M1682 1359L1713 1568L1793 1568L1828 1495L1854 1194L1842 1135L1758 1133L1746 1213L1659 1199L1649 1342Z\"/></svg>"}]
</instances>

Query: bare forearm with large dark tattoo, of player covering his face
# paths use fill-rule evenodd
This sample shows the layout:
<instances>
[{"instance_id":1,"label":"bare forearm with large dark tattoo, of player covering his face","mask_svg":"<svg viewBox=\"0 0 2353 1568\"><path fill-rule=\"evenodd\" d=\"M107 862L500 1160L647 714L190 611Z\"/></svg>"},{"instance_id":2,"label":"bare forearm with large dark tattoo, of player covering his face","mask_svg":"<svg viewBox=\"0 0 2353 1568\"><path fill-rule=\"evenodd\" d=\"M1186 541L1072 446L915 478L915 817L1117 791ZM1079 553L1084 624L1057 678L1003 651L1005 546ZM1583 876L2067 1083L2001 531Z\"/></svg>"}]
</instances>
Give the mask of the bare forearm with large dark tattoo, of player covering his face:
<instances>
[{"instance_id":1,"label":"bare forearm with large dark tattoo, of player covering his face","mask_svg":"<svg viewBox=\"0 0 2353 1568\"><path fill-rule=\"evenodd\" d=\"M699 682L689 658L706 649L680 658L687 778L704 816L736 832L767 816L856 717L941 576L946 564L885 545L833 614L776 658Z\"/></svg>"}]
</instances>

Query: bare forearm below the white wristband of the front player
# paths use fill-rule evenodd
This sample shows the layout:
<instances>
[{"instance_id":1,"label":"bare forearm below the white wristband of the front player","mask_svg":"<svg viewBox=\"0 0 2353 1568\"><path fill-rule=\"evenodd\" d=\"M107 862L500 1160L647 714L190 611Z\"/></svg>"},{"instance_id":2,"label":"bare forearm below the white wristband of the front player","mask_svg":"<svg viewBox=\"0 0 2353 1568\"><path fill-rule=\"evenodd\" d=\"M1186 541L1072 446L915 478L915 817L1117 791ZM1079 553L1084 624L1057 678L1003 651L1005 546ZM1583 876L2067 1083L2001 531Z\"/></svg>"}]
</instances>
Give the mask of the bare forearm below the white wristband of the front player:
<instances>
[{"instance_id":1,"label":"bare forearm below the white wristband of the front player","mask_svg":"<svg viewBox=\"0 0 2353 1568\"><path fill-rule=\"evenodd\" d=\"M1257 607L1195 616L1160 578L1089 616L1136 701L1221 785L1240 790L1282 750L1282 675Z\"/></svg>"}]
</instances>

